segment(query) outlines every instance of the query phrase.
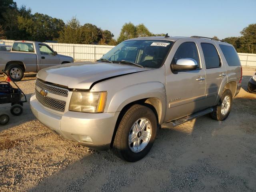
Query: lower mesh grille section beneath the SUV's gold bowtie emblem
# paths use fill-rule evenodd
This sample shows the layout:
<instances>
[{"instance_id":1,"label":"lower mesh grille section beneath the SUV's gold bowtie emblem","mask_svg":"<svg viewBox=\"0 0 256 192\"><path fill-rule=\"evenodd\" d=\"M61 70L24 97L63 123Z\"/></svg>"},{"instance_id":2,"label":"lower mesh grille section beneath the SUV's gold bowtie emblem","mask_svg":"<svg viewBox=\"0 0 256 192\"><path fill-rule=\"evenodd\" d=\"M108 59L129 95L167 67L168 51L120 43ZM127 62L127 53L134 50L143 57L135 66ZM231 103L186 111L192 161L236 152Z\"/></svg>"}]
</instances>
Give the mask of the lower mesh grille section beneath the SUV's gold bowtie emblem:
<instances>
[{"instance_id":1,"label":"lower mesh grille section beneath the SUV's gold bowtie emblem","mask_svg":"<svg viewBox=\"0 0 256 192\"><path fill-rule=\"evenodd\" d=\"M45 107L48 107L50 109L64 112L65 106L66 106L66 101L54 99L51 97L44 97L42 96L37 90L36 91L36 98L37 100Z\"/></svg>"}]
</instances>

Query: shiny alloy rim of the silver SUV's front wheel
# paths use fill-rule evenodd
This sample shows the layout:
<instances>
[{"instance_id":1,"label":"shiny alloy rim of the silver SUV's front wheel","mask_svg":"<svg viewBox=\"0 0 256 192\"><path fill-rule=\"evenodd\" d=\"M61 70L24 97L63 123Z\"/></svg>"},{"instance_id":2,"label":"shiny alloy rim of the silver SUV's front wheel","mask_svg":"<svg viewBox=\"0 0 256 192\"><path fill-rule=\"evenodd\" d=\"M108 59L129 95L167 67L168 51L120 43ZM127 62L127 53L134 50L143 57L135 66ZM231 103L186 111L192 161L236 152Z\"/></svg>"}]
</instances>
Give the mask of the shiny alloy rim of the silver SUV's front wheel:
<instances>
[{"instance_id":1,"label":"shiny alloy rim of the silver SUV's front wheel","mask_svg":"<svg viewBox=\"0 0 256 192\"><path fill-rule=\"evenodd\" d=\"M149 143L152 126L147 118L140 118L132 125L128 137L128 145L132 152L141 152Z\"/></svg>"}]
</instances>

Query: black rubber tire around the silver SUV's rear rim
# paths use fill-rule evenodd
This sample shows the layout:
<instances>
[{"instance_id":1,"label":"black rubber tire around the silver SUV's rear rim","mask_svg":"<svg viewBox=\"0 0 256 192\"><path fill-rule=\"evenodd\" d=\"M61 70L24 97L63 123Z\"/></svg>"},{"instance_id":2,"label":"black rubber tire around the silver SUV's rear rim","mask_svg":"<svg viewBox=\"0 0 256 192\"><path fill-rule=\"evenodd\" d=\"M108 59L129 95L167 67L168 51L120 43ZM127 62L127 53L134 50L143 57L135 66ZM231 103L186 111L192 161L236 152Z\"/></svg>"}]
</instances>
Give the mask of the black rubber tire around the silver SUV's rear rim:
<instances>
[{"instance_id":1,"label":"black rubber tire around the silver SUV's rear rim","mask_svg":"<svg viewBox=\"0 0 256 192\"><path fill-rule=\"evenodd\" d=\"M223 102L223 100L226 96L229 96L229 98L230 98L230 107L229 107L228 112L226 114L222 114L221 113L222 102ZM233 101L232 92L229 89L223 90L220 101L218 102L218 104L216 106L214 106L214 110L213 110L212 113L210 113L210 116L214 120L218 120L218 121L225 120L228 117L228 115L230 114L230 110L232 108L232 101Z\"/></svg>"}]
</instances>

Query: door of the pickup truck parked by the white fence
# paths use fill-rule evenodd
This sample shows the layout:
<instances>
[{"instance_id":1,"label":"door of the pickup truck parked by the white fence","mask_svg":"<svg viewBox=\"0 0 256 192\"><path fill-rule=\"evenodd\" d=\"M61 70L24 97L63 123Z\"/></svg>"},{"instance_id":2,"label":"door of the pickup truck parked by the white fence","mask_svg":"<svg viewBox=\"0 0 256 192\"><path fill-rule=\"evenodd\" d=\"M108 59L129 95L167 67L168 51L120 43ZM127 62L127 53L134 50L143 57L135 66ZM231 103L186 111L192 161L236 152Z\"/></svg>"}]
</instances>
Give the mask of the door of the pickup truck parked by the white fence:
<instances>
[{"instance_id":1,"label":"door of the pickup truck parked by the white fence","mask_svg":"<svg viewBox=\"0 0 256 192\"><path fill-rule=\"evenodd\" d=\"M41 65L40 65L40 70L58 65L60 64L60 59L58 55L53 54L53 50L46 44L38 44L39 50L40 50L40 60L41 60Z\"/></svg>"}]
</instances>

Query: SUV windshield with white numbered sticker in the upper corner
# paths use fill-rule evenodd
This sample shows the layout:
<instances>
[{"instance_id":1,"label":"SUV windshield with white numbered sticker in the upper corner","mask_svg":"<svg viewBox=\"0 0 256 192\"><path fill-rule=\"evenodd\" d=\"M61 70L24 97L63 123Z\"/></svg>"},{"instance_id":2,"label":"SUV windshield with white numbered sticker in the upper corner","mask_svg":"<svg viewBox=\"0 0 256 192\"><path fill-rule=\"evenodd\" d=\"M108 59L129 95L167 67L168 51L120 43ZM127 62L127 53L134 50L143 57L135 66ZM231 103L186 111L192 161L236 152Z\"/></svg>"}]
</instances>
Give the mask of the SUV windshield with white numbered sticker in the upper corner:
<instances>
[{"instance_id":1,"label":"SUV windshield with white numbered sticker in the upper corner","mask_svg":"<svg viewBox=\"0 0 256 192\"><path fill-rule=\"evenodd\" d=\"M101 59L112 62L128 61L144 67L159 68L172 46L166 40L131 40L124 41L107 52ZM126 64L129 64L126 62Z\"/></svg>"}]
</instances>

